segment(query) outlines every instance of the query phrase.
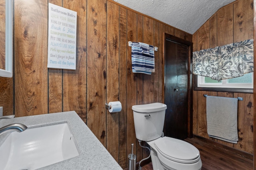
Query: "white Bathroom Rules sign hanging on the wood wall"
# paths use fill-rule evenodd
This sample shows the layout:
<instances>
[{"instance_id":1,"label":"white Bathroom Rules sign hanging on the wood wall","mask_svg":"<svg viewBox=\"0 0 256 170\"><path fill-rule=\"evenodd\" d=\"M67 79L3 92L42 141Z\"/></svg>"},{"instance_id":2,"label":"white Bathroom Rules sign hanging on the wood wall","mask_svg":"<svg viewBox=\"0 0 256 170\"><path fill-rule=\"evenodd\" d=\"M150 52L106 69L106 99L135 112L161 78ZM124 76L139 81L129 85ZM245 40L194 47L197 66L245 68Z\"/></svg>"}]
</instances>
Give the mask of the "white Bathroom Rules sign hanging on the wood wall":
<instances>
[{"instance_id":1,"label":"white Bathroom Rules sign hanging on the wood wall","mask_svg":"<svg viewBox=\"0 0 256 170\"><path fill-rule=\"evenodd\" d=\"M76 69L75 11L49 3L48 68Z\"/></svg>"}]
</instances>

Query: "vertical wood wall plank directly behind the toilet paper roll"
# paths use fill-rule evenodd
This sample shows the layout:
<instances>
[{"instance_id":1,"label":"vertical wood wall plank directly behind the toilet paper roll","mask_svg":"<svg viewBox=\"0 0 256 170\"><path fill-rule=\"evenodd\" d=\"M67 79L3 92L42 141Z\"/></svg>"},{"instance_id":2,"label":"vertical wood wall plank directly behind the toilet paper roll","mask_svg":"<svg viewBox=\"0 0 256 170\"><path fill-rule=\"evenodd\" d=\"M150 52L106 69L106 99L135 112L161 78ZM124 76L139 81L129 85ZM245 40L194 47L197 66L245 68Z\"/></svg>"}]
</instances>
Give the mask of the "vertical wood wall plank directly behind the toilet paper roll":
<instances>
[{"instance_id":1,"label":"vertical wood wall plank directly behind the toilet paper roll","mask_svg":"<svg viewBox=\"0 0 256 170\"><path fill-rule=\"evenodd\" d=\"M107 3L107 101L119 101L119 6ZM107 150L118 162L119 112L107 111ZM114 140L113 140L114 139Z\"/></svg>"}]
</instances>

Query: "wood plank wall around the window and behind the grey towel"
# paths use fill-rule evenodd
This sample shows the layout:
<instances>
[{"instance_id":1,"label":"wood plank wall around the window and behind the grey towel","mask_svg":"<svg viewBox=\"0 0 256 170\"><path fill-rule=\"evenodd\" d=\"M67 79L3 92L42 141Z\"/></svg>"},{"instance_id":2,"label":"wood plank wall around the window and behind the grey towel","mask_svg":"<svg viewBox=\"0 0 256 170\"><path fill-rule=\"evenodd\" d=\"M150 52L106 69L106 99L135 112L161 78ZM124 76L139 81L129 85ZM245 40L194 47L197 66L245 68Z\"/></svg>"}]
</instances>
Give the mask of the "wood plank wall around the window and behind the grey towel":
<instances>
[{"instance_id":1,"label":"wood plank wall around the window and behind the grey towel","mask_svg":"<svg viewBox=\"0 0 256 170\"><path fill-rule=\"evenodd\" d=\"M237 0L218 10L193 34L193 51L253 39L253 25L253 0ZM206 98L203 94L244 98L238 102L237 144L209 138L206 129ZM193 134L252 154L253 106L253 94L193 91Z\"/></svg>"}]
</instances>

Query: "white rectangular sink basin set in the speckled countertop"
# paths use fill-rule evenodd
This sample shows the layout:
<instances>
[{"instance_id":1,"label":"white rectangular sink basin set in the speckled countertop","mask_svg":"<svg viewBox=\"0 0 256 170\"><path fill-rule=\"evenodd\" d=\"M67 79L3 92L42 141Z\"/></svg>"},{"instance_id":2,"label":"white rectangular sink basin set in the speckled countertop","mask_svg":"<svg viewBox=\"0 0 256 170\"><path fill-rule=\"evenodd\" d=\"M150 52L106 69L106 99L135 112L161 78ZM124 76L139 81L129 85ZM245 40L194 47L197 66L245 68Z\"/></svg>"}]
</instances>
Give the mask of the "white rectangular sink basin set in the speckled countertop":
<instances>
[{"instance_id":1,"label":"white rectangular sink basin set in the speckled countertop","mask_svg":"<svg viewBox=\"0 0 256 170\"><path fill-rule=\"evenodd\" d=\"M78 155L67 123L14 131L0 146L0 170L34 170Z\"/></svg>"}]
</instances>

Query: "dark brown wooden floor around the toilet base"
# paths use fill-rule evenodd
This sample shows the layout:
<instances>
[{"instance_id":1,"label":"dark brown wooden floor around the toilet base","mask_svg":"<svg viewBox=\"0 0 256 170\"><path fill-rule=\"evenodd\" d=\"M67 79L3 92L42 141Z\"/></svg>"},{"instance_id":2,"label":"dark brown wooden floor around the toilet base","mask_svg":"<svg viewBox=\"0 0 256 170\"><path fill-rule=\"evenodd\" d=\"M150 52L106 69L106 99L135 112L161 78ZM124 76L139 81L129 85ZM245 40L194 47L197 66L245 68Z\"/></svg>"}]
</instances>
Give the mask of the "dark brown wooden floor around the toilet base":
<instances>
[{"instance_id":1,"label":"dark brown wooden floor around the toilet base","mask_svg":"<svg viewBox=\"0 0 256 170\"><path fill-rule=\"evenodd\" d=\"M200 138L189 138L185 141L193 144L199 151L202 160L202 170L252 170L253 156L214 141ZM142 167L142 170L153 170L152 163Z\"/></svg>"}]
</instances>

